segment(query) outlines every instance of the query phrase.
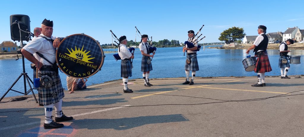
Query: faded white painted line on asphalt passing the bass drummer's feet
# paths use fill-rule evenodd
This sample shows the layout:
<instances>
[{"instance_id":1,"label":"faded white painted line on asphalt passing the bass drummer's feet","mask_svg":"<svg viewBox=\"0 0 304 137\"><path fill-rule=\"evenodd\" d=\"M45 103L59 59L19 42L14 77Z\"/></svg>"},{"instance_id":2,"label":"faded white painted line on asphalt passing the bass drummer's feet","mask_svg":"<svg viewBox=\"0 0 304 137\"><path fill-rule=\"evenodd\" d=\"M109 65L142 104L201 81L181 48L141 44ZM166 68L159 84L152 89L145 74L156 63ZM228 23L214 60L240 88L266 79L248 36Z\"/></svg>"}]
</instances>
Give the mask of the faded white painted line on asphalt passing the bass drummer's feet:
<instances>
[{"instance_id":1,"label":"faded white painted line on asphalt passing the bass drummer's feet","mask_svg":"<svg viewBox=\"0 0 304 137\"><path fill-rule=\"evenodd\" d=\"M98 110L98 111L92 111L92 112L72 115L72 117L77 117L77 116L82 116L82 115L88 115L88 114L93 114L93 113L98 113L98 112L103 112L103 111L108 111L108 110L114 110L114 109L118 109L118 108L124 108L124 107L127 107L127 106L131 106L131 105L123 105L123 106L115 107L115 108L107 108L107 109L103 109L103 110ZM37 122L30 122L30 123L20 124L20 125L8 126L8 127L0 128L0 130L6 130L6 129L10 129L10 128L19 128L19 127L22 127L22 126L34 125L34 124L39 124L39 123L44 123L44 120L42 120L40 122L37 121Z\"/></svg>"}]
</instances>

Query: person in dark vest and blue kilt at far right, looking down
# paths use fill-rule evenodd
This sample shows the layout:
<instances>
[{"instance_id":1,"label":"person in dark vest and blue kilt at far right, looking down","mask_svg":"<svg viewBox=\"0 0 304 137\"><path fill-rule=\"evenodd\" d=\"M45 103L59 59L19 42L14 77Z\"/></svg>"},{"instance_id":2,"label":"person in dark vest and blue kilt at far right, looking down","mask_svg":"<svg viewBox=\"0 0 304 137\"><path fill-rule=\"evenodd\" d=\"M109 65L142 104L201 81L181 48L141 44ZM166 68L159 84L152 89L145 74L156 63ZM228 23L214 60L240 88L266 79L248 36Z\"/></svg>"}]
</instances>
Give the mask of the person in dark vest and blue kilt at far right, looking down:
<instances>
[{"instance_id":1,"label":"person in dark vest and blue kilt at far right, looking down","mask_svg":"<svg viewBox=\"0 0 304 137\"><path fill-rule=\"evenodd\" d=\"M290 68L289 62L288 62L288 52L290 52L290 50L288 50L288 46L293 44L293 40L292 39L287 39L286 41L283 41L281 43L281 45L279 46L280 49L280 58L279 58L279 67L281 69L281 78L287 78L289 79L290 77L287 76L287 72ZM283 59L285 59L284 61L282 61Z\"/></svg>"}]
</instances>

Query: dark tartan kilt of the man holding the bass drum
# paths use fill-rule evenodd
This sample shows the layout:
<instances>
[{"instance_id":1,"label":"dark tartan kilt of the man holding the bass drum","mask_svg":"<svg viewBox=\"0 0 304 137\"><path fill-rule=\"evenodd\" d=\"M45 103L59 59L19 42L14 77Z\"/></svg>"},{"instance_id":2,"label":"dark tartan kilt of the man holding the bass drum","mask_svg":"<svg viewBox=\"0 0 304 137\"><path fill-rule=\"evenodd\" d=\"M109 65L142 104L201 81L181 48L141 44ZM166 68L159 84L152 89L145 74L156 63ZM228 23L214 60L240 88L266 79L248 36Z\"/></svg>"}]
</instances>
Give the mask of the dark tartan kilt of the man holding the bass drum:
<instances>
[{"instance_id":1,"label":"dark tartan kilt of the man holding the bass drum","mask_svg":"<svg viewBox=\"0 0 304 137\"><path fill-rule=\"evenodd\" d=\"M49 74L49 76L52 76L51 78L53 80L53 84L52 87L49 88L45 88L40 85L38 88L39 104L55 104L64 97L60 76L54 71L38 70L38 78L41 78L43 74Z\"/></svg>"}]
</instances>

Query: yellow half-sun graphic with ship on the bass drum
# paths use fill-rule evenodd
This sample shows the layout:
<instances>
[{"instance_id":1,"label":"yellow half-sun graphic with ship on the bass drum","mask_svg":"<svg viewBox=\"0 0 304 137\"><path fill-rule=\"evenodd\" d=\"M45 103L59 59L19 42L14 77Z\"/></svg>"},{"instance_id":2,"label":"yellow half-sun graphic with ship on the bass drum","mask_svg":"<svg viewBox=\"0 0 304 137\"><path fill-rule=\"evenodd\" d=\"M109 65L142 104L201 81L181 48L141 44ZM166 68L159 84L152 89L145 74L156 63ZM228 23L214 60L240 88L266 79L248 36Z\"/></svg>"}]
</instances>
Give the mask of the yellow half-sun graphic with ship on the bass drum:
<instances>
[{"instance_id":1,"label":"yellow half-sun graphic with ship on the bass drum","mask_svg":"<svg viewBox=\"0 0 304 137\"><path fill-rule=\"evenodd\" d=\"M85 51L83 51L83 47L84 45L82 46L81 50L80 48L77 49L77 47L75 46L75 50L73 50L71 48L72 51L70 51L69 49L67 49L69 51L70 54L67 54L69 57L72 57L72 58L75 58L75 59L78 59L78 60L81 60L81 61L84 61L84 62L87 62L87 63L93 63L93 62L90 62L89 60L92 60L94 59L95 57L92 57L92 58L89 58L91 55L88 55L89 52L91 51L88 51L87 53Z\"/></svg>"}]
</instances>

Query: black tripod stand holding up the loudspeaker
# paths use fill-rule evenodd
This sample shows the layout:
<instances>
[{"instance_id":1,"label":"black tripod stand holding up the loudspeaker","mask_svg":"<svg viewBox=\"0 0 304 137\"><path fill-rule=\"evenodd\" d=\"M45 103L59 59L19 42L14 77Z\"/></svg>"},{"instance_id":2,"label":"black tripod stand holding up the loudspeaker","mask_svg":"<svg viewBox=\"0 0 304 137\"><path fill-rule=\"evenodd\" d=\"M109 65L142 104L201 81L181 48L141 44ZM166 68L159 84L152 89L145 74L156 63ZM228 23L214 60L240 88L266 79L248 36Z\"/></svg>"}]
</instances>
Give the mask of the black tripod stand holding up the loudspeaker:
<instances>
[{"instance_id":1,"label":"black tripod stand holding up the loudspeaker","mask_svg":"<svg viewBox=\"0 0 304 137\"><path fill-rule=\"evenodd\" d=\"M23 44L23 42L21 41L21 43ZM22 53L21 53L22 54ZM15 91L15 92L18 92L18 93L21 93L21 94L24 94L24 95L27 95L29 94L29 92L31 91L32 94L33 94L33 97L35 98L35 101L36 103L38 103L37 99L36 99L36 96L34 94L34 91L33 91L33 88L31 86L31 84L29 83L29 81L33 84L33 81L29 78L29 76L27 75L27 73L25 72L25 67L24 67L24 56L22 54L22 66L23 66L23 72L20 74L20 76L16 79L16 81L12 84L11 87L9 87L9 89L5 92L5 94L1 97L0 101L4 98L4 96L9 93L9 91ZM24 93L22 92L19 92L19 91L16 91L16 90L13 90L12 88L14 87L14 85L17 83L17 81L23 76L23 82L24 82ZM27 83L29 84L29 90L26 91L26 81Z\"/></svg>"}]
</instances>

